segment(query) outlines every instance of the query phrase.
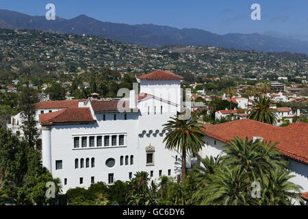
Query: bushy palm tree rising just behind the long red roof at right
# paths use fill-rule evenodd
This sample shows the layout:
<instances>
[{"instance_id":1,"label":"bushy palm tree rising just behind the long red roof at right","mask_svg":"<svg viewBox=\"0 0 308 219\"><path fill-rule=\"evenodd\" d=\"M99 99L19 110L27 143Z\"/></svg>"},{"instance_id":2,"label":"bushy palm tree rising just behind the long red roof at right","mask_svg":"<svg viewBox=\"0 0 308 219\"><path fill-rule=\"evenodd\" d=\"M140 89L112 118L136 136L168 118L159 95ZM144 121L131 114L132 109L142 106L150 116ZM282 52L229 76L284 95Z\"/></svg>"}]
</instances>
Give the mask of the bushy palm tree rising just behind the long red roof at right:
<instances>
[{"instance_id":1,"label":"bushy palm tree rising just behind the long red roof at right","mask_svg":"<svg viewBox=\"0 0 308 219\"><path fill-rule=\"evenodd\" d=\"M259 96L258 99L255 99L253 110L248 115L248 118L271 125L276 124L278 119L278 116L276 114L277 110L270 108L270 105L272 104L273 102L270 97Z\"/></svg>"}]
</instances>

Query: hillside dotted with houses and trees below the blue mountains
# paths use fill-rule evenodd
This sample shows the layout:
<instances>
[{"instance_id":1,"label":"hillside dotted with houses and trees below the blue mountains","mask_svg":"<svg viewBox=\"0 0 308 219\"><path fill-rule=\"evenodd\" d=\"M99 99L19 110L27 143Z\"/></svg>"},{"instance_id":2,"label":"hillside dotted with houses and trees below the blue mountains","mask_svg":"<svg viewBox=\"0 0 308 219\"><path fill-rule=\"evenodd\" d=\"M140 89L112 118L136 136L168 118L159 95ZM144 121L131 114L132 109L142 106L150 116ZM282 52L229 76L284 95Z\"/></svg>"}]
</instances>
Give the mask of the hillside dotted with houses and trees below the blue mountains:
<instances>
[{"instance_id":1,"label":"hillside dotted with houses and trees below the blue mountains","mask_svg":"<svg viewBox=\"0 0 308 219\"><path fill-rule=\"evenodd\" d=\"M150 49L101 37L0 29L0 69L18 72L36 64L49 72L77 73L100 67L146 73L173 69L188 77L268 77L308 73L308 56L217 47Z\"/></svg>"}]
</instances>

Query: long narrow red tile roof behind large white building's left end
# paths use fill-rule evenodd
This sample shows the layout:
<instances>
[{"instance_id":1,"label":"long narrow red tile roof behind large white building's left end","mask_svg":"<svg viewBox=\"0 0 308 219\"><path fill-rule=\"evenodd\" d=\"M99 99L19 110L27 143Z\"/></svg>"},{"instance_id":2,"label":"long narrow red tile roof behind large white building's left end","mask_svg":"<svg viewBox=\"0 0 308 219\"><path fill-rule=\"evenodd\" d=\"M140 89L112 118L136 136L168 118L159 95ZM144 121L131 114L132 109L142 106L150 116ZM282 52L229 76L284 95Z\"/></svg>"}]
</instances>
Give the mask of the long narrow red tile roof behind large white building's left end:
<instances>
[{"instance_id":1,"label":"long narrow red tile roof behind large white building's left end","mask_svg":"<svg viewBox=\"0 0 308 219\"><path fill-rule=\"evenodd\" d=\"M36 103L34 105L35 109L66 109L78 107L79 101L86 101L86 99L82 100L71 100L71 101L45 101Z\"/></svg>"}]
</instances>

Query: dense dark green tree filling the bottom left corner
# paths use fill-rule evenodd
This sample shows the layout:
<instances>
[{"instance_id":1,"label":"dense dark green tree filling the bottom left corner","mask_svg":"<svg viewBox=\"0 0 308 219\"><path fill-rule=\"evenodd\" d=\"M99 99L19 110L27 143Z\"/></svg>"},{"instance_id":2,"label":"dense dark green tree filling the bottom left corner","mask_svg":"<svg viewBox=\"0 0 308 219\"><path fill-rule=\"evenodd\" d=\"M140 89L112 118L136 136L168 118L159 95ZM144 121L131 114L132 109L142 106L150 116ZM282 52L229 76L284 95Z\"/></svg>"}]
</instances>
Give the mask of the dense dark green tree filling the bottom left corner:
<instances>
[{"instance_id":1,"label":"dense dark green tree filling the bottom left corner","mask_svg":"<svg viewBox=\"0 0 308 219\"><path fill-rule=\"evenodd\" d=\"M40 153L20 141L10 131L0 129L0 193L5 201L16 205L46 205L55 198L46 198L46 183L53 181L56 194L60 180L40 164Z\"/></svg>"}]
</instances>

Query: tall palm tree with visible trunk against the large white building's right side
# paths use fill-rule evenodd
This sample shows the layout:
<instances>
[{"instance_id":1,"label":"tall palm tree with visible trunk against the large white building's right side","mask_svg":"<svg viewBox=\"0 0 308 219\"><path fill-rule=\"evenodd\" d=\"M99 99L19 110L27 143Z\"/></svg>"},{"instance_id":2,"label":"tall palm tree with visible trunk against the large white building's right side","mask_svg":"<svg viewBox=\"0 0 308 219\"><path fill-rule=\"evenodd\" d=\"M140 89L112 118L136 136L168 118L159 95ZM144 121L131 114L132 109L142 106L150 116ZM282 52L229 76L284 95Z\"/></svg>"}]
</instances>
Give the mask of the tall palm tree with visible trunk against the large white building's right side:
<instances>
[{"instance_id":1,"label":"tall palm tree with visible trunk against the large white building's right side","mask_svg":"<svg viewBox=\"0 0 308 219\"><path fill-rule=\"evenodd\" d=\"M196 117L188 120L172 118L164 124L164 130L170 130L163 142L166 149L181 151L182 157L182 180L186 177L186 153L198 153L204 145L203 126L196 122Z\"/></svg>"}]
</instances>

